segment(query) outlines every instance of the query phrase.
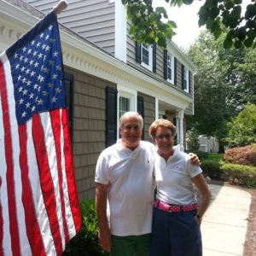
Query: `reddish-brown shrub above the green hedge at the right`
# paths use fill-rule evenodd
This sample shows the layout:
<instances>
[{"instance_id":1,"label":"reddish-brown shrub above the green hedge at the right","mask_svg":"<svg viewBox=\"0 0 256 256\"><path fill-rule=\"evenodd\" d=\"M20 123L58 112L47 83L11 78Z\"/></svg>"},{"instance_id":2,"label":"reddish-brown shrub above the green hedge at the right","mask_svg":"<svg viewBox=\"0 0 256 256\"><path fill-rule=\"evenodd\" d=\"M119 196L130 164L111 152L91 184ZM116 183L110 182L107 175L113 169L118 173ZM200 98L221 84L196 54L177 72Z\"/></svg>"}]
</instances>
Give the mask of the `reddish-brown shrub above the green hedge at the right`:
<instances>
[{"instance_id":1,"label":"reddish-brown shrub above the green hedge at the right","mask_svg":"<svg viewBox=\"0 0 256 256\"><path fill-rule=\"evenodd\" d=\"M256 166L256 144L230 148L224 154L224 161L246 166Z\"/></svg>"}]
</instances>

